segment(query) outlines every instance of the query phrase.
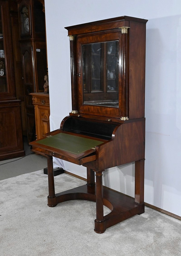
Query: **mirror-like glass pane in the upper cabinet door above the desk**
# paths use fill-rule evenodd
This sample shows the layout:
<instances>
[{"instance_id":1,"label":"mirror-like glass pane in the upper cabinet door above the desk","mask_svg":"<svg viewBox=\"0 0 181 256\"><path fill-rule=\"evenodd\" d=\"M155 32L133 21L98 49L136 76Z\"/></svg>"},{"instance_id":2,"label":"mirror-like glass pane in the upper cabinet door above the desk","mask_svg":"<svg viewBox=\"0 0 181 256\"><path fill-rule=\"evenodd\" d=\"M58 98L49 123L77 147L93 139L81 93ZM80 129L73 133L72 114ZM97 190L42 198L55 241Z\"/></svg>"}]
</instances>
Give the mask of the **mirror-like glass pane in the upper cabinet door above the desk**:
<instances>
[{"instance_id":1,"label":"mirror-like glass pane in the upper cabinet door above the desk","mask_svg":"<svg viewBox=\"0 0 181 256\"><path fill-rule=\"evenodd\" d=\"M82 45L84 104L118 107L118 41Z\"/></svg>"}]
</instances>

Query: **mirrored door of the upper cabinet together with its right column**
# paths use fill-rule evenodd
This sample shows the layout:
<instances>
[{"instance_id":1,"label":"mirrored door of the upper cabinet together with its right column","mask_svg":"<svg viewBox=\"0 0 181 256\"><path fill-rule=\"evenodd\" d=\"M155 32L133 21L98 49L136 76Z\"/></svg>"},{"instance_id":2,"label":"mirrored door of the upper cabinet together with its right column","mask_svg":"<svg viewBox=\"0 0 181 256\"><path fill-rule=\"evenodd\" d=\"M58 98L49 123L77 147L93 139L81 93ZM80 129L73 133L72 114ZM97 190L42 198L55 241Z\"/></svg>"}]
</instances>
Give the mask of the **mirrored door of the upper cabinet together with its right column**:
<instances>
[{"instance_id":1,"label":"mirrored door of the upper cabinet together with its right column","mask_svg":"<svg viewBox=\"0 0 181 256\"><path fill-rule=\"evenodd\" d=\"M80 113L127 116L127 55L121 30L77 37Z\"/></svg>"}]
</instances>

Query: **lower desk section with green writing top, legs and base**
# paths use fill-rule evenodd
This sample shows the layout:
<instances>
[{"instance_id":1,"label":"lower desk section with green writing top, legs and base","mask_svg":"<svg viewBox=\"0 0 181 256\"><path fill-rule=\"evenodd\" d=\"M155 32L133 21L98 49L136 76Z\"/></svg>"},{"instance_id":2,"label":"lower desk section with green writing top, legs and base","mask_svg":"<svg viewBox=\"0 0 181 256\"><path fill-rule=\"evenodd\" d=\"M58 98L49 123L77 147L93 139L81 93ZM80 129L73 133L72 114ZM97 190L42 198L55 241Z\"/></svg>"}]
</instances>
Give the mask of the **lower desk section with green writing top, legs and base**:
<instances>
[{"instance_id":1,"label":"lower desk section with green writing top, legs and base","mask_svg":"<svg viewBox=\"0 0 181 256\"><path fill-rule=\"evenodd\" d=\"M84 125L83 123L84 122ZM70 123L75 132L70 132ZM81 123L82 129L78 131ZM87 125L87 128L85 126ZM101 135L93 134L97 125ZM96 202L95 231L102 233L113 226L144 212L144 119L122 124L98 123L76 117L66 117L62 128L50 132L46 139L31 142L32 150L47 157L49 196L48 206L83 199ZM98 128L98 126L100 128ZM104 127L106 128L104 129ZM92 136L88 136L88 129ZM134 131L134 132L133 132ZM89 132L90 133L90 132ZM132 134L134 133L134 134ZM84 134L84 135L83 135ZM140 135L141 134L141 135ZM94 137L93 137L94 136ZM96 137L95 137L96 136ZM136 140L132 139L133 137ZM121 154L131 152L136 154ZM52 156L87 167L87 185L55 194ZM117 157L116 157L117 156ZM102 172L113 166L135 161L135 199L102 186ZM96 185L94 182L96 175ZM103 205L111 212L104 216Z\"/></svg>"}]
</instances>

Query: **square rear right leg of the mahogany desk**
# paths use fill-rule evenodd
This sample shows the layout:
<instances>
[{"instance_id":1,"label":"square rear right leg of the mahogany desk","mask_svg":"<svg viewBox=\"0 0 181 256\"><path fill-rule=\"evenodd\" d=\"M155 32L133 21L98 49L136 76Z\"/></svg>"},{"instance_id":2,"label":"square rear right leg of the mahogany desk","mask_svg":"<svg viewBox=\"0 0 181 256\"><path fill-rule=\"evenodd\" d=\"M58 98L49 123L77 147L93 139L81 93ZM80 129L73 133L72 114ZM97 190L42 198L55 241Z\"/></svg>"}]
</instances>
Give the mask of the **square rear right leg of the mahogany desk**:
<instances>
[{"instance_id":1,"label":"square rear right leg of the mahogany desk","mask_svg":"<svg viewBox=\"0 0 181 256\"><path fill-rule=\"evenodd\" d=\"M144 159L135 162L135 203L144 203Z\"/></svg>"}]
</instances>

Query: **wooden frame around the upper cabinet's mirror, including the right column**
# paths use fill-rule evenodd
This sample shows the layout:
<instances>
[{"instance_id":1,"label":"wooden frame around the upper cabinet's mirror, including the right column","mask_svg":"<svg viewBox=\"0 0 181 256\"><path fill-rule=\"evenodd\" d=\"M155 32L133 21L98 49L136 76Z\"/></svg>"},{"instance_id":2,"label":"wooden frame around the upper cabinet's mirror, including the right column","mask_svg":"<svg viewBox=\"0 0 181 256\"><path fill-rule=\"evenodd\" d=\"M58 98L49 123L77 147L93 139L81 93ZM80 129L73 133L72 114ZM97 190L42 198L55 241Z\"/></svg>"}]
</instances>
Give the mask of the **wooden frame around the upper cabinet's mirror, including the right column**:
<instances>
[{"instance_id":1,"label":"wooden frame around the upper cabinet's mirror, including the right column","mask_svg":"<svg viewBox=\"0 0 181 256\"><path fill-rule=\"evenodd\" d=\"M127 35L126 35L127 37ZM126 38L127 39L127 38ZM128 91L128 47L127 40L122 36L121 30L112 31L109 33L89 34L86 36L77 36L77 74L83 74L83 53L82 45L118 41L118 107L104 107L84 104L84 88L83 88L83 75L78 77L78 102L79 113L104 115L112 117L121 117L128 115L127 91Z\"/></svg>"}]
</instances>

